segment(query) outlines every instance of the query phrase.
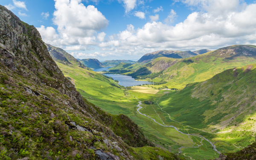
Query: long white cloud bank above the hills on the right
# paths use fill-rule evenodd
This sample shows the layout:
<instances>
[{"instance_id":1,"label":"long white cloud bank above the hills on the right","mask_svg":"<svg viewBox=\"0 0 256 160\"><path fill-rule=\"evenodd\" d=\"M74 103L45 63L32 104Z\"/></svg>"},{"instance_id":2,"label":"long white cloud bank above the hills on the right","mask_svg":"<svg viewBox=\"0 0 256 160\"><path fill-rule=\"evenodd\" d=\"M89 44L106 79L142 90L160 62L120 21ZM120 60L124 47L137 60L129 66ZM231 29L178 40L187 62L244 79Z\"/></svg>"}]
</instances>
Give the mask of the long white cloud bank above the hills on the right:
<instances>
[{"instance_id":1,"label":"long white cloud bank above the hills on the right","mask_svg":"<svg viewBox=\"0 0 256 160\"><path fill-rule=\"evenodd\" d=\"M232 4L221 0L184 0L188 6L199 5L186 20L172 26L177 17L174 10L163 22L150 16L151 22L142 28L129 25L102 50L125 54L145 54L160 49L217 49L233 44L256 44L256 4L244 5L239 0Z\"/></svg>"}]
</instances>

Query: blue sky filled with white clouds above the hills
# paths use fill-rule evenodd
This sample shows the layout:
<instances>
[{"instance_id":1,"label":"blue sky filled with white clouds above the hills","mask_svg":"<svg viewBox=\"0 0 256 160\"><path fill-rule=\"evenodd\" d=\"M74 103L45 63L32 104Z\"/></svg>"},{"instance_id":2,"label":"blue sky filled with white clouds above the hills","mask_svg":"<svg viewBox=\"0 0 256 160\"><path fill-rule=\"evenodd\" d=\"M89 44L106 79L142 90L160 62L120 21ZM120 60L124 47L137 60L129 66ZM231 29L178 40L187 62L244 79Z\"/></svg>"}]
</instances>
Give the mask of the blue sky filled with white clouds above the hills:
<instances>
[{"instance_id":1,"label":"blue sky filled with white clouds above the hills","mask_svg":"<svg viewBox=\"0 0 256 160\"><path fill-rule=\"evenodd\" d=\"M1 0L42 40L79 59L256 45L255 0Z\"/></svg>"}]
</instances>

